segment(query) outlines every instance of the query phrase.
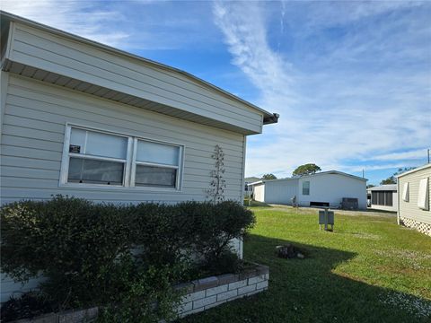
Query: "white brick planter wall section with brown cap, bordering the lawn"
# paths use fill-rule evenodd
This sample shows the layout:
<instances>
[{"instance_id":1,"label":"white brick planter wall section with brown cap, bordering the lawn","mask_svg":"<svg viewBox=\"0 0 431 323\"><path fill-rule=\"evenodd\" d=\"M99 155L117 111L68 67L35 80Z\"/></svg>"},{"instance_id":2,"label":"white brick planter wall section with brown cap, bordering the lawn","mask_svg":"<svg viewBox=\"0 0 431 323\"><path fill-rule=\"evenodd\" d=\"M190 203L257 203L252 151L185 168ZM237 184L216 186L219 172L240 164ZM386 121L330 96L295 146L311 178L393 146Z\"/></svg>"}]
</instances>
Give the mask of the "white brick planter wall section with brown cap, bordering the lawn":
<instances>
[{"instance_id":1,"label":"white brick planter wall section with brown cap, bordering the lawn","mask_svg":"<svg viewBox=\"0 0 431 323\"><path fill-rule=\"evenodd\" d=\"M253 265L240 274L211 276L175 286L186 292L178 308L180 318L267 290L268 266Z\"/></svg>"}]
</instances>

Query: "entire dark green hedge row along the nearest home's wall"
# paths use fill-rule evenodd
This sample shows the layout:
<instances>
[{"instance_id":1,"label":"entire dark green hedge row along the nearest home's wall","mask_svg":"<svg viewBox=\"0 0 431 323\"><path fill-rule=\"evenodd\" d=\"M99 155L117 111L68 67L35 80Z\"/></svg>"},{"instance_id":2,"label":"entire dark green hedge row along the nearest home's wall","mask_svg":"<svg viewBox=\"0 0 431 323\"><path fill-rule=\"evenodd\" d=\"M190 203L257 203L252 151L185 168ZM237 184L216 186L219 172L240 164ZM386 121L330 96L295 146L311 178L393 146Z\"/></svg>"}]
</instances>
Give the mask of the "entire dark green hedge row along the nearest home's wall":
<instances>
[{"instance_id":1,"label":"entire dark green hedge row along the nearest home's wall","mask_svg":"<svg viewBox=\"0 0 431 323\"><path fill-rule=\"evenodd\" d=\"M178 301L172 283L235 270L229 242L255 222L232 201L112 205L65 196L4 205L0 215L4 273L19 281L44 275L41 290L58 308L128 300L138 321L169 316Z\"/></svg>"}]
</instances>

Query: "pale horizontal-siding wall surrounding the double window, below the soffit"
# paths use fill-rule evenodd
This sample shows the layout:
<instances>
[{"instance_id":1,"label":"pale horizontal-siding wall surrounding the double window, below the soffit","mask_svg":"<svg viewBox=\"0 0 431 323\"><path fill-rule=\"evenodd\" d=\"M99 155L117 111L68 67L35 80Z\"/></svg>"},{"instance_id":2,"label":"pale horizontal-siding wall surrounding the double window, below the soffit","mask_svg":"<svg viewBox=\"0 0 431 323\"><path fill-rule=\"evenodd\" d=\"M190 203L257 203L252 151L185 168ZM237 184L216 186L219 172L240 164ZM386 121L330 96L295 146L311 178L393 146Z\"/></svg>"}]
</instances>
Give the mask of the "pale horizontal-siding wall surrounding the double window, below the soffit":
<instances>
[{"instance_id":1,"label":"pale horizontal-siding wall surrounding the double window, below the soffit","mask_svg":"<svg viewBox=\"0 0 431 323\"><path fill-rule=\"evenodd\" d=\"M243 135L103 100L22 76L11 74L10 83L1 143L4 160L1 169L3 203L24 198L47 199L53 194L132 203L206 200L205 189L209 187L210 172L215 163L211 155L216 144L226 153L225 196L229 199L241 199ZM105 115L101 116L103 107ZM85 116L86 120L83 118ZM151 135L151 139L185 144L182 191L58 187L66 122L126 135Z\"/></svg>"}]
</instances>

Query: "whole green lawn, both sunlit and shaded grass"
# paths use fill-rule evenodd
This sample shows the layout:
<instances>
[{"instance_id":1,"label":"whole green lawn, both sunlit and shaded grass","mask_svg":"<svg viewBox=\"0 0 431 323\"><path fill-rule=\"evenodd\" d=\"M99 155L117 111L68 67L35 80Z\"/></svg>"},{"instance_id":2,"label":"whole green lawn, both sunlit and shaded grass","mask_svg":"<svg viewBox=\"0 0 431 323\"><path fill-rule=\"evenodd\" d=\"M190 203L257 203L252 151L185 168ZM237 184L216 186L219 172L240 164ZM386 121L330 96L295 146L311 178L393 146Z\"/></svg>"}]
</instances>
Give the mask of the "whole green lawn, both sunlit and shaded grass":
<instances>
[{"instance_id":1,"label":"whole green lawn, both sunlit and shaded grass","mask_svg":"<svg viewBox=\"0 0 431 323\"><path fill-rule=\"evenodd\" d=\"M183 322L431 322L431 238L391 214L337 214L319 231L316 211L252 207L247 260L268 265L268 292ZM292 242L308 258L281 259Z\"/></svg>"}]
</instances>

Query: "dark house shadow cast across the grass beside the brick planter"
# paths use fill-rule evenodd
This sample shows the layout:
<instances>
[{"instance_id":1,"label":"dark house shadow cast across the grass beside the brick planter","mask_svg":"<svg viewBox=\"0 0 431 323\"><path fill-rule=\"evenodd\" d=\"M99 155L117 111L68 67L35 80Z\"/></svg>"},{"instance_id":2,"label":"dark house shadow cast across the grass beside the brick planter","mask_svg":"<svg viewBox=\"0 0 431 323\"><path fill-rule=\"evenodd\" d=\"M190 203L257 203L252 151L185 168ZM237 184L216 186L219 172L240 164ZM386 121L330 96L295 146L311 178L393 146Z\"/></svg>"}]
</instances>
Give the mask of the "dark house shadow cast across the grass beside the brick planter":
<instances>
[{"instance_id":1,"label":"dark house shadow cast across the grass beside the brick planter","mask_svg":"<svg viewBox=\"0 0 431 323\"><path fill-rule=\"evenodd\" d=\"M277 258L276 246L289 242L307 258ZM251 234L244 255L269 266L268 292L181 322L431 322L431 301L332 273L355 253Z\"/></svg>"}]
</instances>

